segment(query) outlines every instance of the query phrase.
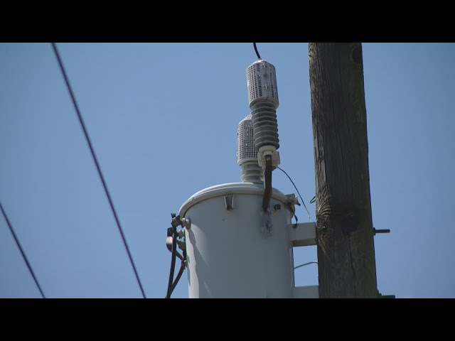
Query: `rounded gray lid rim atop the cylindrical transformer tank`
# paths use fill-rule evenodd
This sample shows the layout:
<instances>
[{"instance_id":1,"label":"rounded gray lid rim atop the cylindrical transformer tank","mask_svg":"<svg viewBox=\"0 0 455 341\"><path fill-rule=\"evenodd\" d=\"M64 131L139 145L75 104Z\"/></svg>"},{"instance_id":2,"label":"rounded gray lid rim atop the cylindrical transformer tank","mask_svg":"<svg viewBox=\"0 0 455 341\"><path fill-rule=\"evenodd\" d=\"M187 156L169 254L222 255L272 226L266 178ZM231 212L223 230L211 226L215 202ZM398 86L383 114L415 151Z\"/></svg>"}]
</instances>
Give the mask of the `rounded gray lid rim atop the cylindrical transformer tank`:
<instances>
[{"instance_id":1,"label":"rounded gray lid rim atop the cylindrical transformer tank","mask_svg":"<svg viewBox=\"0 0 455 341\"><path fill-rule=\"evenodd\" d=\"M181 217L185 217L186 211L193 205L203 200L211 199L212 197L220 197L223 195L237 195L237 194L250 194L250 195L264 195L264 185L259 183L223 183L221 185L215 185L208 188L204 188L197 193L191 195L191 197L183 203L178 211ZM285 195L276 188L272 188L272 197L276 200L283 202L284 204L291 201L289 196Z\"/></svg>"}]
</instances>

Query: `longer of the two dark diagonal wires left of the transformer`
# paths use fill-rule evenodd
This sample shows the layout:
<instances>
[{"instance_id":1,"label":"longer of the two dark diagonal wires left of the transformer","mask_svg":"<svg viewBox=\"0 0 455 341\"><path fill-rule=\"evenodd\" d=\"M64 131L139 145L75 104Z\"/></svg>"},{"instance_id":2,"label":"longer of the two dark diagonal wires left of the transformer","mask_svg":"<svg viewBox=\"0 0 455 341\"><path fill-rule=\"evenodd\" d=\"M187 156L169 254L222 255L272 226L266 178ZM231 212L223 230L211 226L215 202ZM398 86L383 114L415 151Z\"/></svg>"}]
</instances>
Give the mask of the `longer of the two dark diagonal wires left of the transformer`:
<instances>
[{"instance_id":1,"label":"longer of the two dark diagonal wires left of the transformer","mask_svg":"<svg viewBox=\"0 0 455 341\"><path fill-rule=\"evenodd\" d=\"M114 203L112 202L111 196L109 194L109 190L107 189L105 177L102 175L102 171L100 168L100 164L98 163L98 159L95 154L95 150L93 149L92 142L90 141L90 137L88 136L87 128L85 127L84 120L82 119L82 115L80 114L79 107L77 106L77 102L76 102L75 96L73 94L73 90L71 89L70 81L68 80L68 76L66 75L66 72L65 72L65 67L63 67L63 62L60 58L60 54L58 53L57 45L55 45L55 43L51 43L51 44L52 44L53 50L55 52L55 57L58 60L58 65L60 65L60 70L62 71L63 78L65 78L66 87L68 88L68 92L70 92L71 99L73 100L73 104L74 104L74 107L75 107L75 110L77 113L77 117L79 118L79 121L80 121L80 126L82 127L82 131L84 131L85 139L87 140L87 144L90 148L90 152L92 153L93 161L95 161L95 165L97 166L98 174L100 175L102 185L105 188L107 200L109 200L109 205L111 206L112 213L114 214L115 221L117 222L117 227L119 227L119 232L120 232L120 235L122 236L124 246L127 249L129 261L131 261L131 264L133 266L134 274L136 275L136 278L137 278L137 283L139 284L139 288L141 288L142 296L144 298L146 298L145 293L144 293L144 288L142 288L142 283L141 283L141 280L139 279L139 274L137 273L136 266L134 266L133 257L131 255L131 252L129 251L127 239L124 236L122 226L120 225L119 218L117 217L117 212L115 210Z\"/></svg>"}]
</instances>

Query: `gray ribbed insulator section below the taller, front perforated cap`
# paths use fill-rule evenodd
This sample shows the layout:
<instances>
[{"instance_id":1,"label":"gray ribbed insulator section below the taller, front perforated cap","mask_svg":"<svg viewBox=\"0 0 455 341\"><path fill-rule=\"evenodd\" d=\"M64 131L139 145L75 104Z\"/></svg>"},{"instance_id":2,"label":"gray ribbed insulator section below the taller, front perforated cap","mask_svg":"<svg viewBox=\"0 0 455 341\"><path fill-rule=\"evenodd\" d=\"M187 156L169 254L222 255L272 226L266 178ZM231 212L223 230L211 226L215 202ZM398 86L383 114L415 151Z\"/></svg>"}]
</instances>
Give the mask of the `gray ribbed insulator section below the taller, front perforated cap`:
<instances>
[{"instance_id":1,"label":"gray ribbed insulator section below the taller, front perforated cap","mask_svg":"<svg viewBox=\"0 0 455 341\"><path fill-rule=\"evenodd\" d=\"M273 103L257 102L251 106L255 149L262 146L279 148L277 109Z\"/></svg>"}]
</instances>

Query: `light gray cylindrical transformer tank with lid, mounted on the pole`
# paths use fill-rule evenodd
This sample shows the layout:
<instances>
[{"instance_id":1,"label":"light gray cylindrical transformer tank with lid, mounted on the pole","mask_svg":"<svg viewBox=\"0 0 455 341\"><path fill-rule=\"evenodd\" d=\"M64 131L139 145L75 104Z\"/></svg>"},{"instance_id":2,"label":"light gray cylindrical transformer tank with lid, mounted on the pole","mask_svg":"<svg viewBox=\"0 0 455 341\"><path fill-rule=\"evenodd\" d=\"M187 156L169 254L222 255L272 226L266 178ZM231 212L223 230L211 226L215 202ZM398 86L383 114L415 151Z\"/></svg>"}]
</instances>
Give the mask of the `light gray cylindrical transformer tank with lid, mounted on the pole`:
<instances>
[{"instance_id":1,"label":"light gray cylindrical transformer tank with lid, mounted on the pole","mask_svg":"<svg viewBox=\"0 0 455 341\"><path fill-rule=\"evenodd\" d=\"M291 298L294 286L289 197L273 190L272 235L262 232L263 185L205 188L181 207L190 298Z\"/></svg>"}]
</instances>

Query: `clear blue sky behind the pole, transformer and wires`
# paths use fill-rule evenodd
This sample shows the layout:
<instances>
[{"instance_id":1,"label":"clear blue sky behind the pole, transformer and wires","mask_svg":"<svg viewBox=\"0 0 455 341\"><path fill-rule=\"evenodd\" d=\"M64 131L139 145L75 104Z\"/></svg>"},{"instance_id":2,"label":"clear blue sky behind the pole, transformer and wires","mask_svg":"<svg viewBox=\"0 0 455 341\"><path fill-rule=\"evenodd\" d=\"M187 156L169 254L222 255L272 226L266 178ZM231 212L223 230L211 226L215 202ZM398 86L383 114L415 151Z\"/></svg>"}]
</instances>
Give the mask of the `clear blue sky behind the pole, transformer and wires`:
<instances>
[{"instance_id":1,"label":"clear blue sky behind the pole, transformer and wires","mask_svg":"<svg viewBox=\"0 0 455 341\"><path fill-rule=\"evenodd\" d=\"M277 69L282 168L314 219L307 43L258 43ZM240 180L251 43L59 43L149 298L166 294L171 212ZM364 43L378 289L455 297L455 45ZM274 171L274 188L295 193ZM50 298L141 297L48 43L0 44L0 200ZM303 208L299 222L309 221ZM316 247L295 250L295 264ZM314 264L297 285L316 284ZM186 273L173 293L188 297ZM0 216L0 297L40 297Z\"/></svg>"}]
</instances>

